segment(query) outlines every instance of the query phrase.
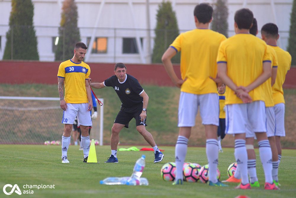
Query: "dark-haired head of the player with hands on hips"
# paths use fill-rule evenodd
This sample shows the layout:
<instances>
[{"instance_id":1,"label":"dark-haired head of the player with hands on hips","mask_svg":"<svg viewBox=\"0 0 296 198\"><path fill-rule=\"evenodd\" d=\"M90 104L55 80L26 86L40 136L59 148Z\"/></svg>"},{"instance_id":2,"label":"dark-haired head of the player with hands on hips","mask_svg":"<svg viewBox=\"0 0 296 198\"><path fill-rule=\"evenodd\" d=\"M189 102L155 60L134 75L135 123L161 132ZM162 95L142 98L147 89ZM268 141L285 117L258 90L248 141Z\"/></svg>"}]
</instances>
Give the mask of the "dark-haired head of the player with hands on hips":
<instances>
[{"instance_id":1,"label":"dark-haired head of the player with hands on hips","mask_svg":"<svg viewBox=\"0 0 296 198\"><path fill-rule=\"evenodd\" d=\"M195 6L194 8L194 16L196 16L198 22L200 23L208 23L212 19L213 8L210 4L201 3Z\"/></svg>"}]
</instances>

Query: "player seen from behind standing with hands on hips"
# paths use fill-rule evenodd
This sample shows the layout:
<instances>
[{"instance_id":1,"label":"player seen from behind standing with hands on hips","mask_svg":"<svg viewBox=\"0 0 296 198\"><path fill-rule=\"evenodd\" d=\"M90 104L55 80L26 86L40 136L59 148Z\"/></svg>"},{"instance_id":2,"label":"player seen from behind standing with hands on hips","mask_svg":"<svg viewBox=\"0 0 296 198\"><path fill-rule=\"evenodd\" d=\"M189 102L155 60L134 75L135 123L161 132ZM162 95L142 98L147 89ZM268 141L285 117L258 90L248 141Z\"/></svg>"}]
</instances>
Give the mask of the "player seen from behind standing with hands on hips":
<instances>
[{"instance_id":1,"label":"player seen from behind standing with hands on hips","mask_svg":"<svg viewBox=\"0 0 296 198\"><path fill-rule=\"evenodd\" d=\"M195 125L198 106L205 126L206 153L209 162L209 185L227 186L217 180L218 165L217 126L219 125L219 101L217 85L211 79L217 76L215 59L218 48L226 37L209 30L213 8L206 3L194 9L196 29L181 33L165 51L162 61L168 75L177 87L181 87L178 110L179 136L176 142L176 179L183 182L183 164L186 157L191 128ZM181 77L173 70L171 58L181 51Z\"/></svg>"}]
</instances>

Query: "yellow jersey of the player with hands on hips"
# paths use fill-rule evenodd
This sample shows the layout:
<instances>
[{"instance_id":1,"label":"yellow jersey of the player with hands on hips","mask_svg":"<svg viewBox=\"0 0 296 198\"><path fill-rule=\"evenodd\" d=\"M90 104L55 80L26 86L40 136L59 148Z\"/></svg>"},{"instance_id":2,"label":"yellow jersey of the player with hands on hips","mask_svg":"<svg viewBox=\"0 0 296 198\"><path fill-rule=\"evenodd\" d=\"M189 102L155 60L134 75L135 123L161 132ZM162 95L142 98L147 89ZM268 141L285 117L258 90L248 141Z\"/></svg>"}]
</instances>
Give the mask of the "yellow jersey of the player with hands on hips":
<instances>
[{"instance_id":1,"label":"yellow jersey of the player with hands on hips","mask_svg":"<svg viewBox=\"0 0 296 198\"><path fill-rule=\"evenodd\" d=\"M216 57L223 34L209 29L194 29L181 33L170 45L181 51L181 77L187 79L182 92L192 94L217 93L216 83L210 79L217 75Z\"/></svg>"}]
</instances>

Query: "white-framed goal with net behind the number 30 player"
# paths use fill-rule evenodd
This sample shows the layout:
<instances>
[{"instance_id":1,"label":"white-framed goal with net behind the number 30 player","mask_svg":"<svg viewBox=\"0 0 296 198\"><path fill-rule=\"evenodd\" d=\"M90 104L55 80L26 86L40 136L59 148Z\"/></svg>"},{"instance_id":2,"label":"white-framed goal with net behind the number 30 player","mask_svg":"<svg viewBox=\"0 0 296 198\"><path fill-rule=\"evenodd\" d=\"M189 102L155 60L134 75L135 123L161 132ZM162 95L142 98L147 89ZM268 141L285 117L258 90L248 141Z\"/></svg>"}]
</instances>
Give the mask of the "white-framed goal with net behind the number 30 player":
<instances>
[{"instance_id":1,"label":"white-framed goal with net behind the number 30 player","mask_svg":"<svg viewBox=\"0 0 296 198\"><path fill-rule=\"evenodd\" d=\"M104 102L103 98L99 100ZM104 107L97 107L98 117L92 121L90 139L98 139L103 145ZM0 96L0 144L61 141L62 114L59 98Z\"/></svg>"}]
</instances>

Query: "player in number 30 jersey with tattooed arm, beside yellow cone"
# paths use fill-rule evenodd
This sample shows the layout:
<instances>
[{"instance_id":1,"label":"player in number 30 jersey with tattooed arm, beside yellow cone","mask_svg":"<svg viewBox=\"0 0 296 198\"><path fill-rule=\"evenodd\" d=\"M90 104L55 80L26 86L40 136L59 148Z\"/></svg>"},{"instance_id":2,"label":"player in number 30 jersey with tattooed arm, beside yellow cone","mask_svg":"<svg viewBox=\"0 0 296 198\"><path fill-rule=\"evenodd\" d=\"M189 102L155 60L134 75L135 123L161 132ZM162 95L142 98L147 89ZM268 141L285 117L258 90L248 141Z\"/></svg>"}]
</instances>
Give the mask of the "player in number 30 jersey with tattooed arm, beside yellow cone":
<instances>
[{"instance_id":1,"label":"player in number 30 jersey with tattooed arm, beside yellow cone","mask_svg":"<svg viewBox=\"0 0 296 198\"><path fill-rule=\"evenodd\" d=\"M59 65L57 74L60 106L64 110L62 123L65 124L62 136L62 163L69 163L67 151L70 145L72 125L76 116L81 129L83 162L86 162L89 156L89 126L92 125L89 111L91 111L93 105L91 89L87 80L91 70L89 65L83 62L86 49L84 43L76 43L73 58L62 62Z\"/></svg>"}]
</instances>

